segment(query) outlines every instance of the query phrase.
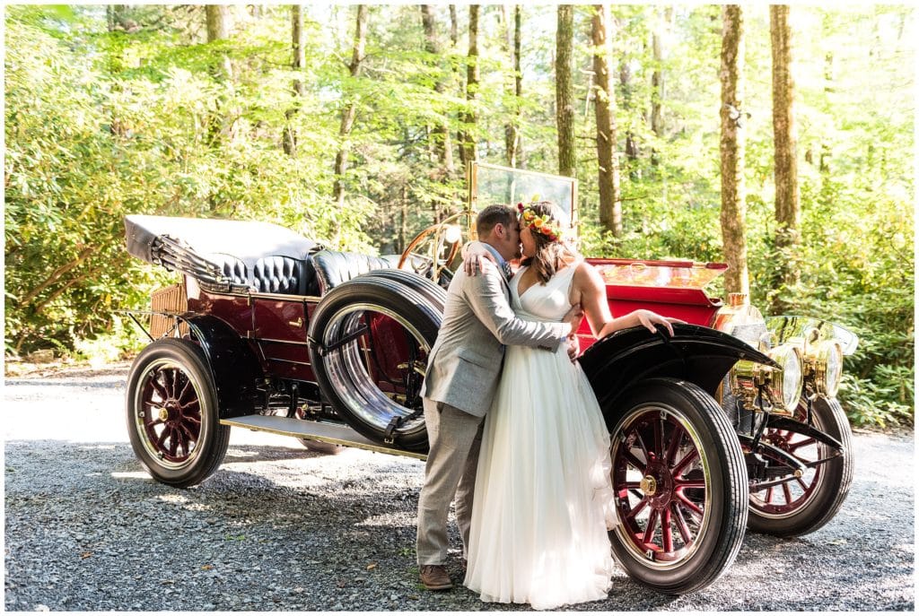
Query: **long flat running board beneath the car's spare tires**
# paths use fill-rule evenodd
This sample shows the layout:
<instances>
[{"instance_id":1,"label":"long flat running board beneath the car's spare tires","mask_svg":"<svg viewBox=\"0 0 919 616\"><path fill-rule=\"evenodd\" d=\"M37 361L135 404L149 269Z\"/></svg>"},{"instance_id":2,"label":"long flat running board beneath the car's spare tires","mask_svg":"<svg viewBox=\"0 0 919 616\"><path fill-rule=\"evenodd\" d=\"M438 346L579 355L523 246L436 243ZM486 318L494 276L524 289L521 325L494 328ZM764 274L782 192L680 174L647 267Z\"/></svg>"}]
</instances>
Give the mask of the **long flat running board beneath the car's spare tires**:
<instances>
[{"instance_id":1,"label":"long flat running board beneath the car's spare tires","mask_svg":"<svg viewBox=\"0 0 919 616\"><path fill-rule=\"evenodd\" d=\"M426 460L426 454L406 452L370 441L363 434L350 426L335 423L325 423L312 420L297 420L290 417L274 415L244 415L221 420L221 425L247 428L248 430L271 432L283 436L292 436L297 439L311 439L312 441L331 442L335 445L367 449L380 454L406 455L419 460Z\"/></svg>"}]
</instances>

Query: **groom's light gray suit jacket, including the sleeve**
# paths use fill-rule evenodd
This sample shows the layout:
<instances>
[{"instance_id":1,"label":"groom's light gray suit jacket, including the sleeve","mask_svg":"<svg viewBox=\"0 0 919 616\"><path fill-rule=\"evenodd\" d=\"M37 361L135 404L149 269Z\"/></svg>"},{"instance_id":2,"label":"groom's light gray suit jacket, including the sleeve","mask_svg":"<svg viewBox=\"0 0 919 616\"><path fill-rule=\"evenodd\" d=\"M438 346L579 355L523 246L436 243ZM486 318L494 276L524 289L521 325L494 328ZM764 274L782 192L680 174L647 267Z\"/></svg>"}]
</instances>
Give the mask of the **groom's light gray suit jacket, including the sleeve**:
<instances>
[{"instance_id":1,"label":"groom's light gray suit jacket, including the sleeve","mask_svg":"<svg viewBox=\"0 0 919 616\"><path fill-rule=\"evenodd\" d=\"M571 326L517 319L509 298L507 281L492 263L477 276L459 268L428 358L423 397L483 417L501 376L505 345L558 349Z\"/></svg>"}]
</instances>

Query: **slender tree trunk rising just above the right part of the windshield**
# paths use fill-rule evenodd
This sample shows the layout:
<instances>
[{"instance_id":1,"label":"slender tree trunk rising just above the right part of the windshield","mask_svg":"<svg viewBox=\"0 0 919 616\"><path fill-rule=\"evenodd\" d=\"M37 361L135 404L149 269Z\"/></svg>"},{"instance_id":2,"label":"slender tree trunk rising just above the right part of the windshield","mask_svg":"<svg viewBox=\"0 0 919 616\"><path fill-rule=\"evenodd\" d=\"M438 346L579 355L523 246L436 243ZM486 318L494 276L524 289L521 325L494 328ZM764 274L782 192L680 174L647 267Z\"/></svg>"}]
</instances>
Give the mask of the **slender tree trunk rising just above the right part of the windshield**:
<instances>
[{"instance_id":1,"label":"slender tree trunk rising just above the right part of the windshield","mask_svg":"<svg viewBox=\"0 0 919 616\"><path fill-rule=\"evenodd\" d=\"M559 134L559 175L574 177L574 7L559 5L555 32L555 124Z\"/></svg>"}]
</instances>

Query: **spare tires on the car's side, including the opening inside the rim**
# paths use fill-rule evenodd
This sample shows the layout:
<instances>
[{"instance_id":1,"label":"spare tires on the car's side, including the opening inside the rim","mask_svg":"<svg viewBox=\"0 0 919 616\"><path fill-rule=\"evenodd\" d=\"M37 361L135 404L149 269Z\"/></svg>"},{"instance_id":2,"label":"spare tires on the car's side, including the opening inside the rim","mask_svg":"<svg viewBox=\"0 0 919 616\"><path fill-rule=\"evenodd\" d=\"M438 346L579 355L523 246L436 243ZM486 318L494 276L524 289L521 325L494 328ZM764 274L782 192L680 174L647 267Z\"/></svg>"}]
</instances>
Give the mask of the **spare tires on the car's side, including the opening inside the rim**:
<instances>
[{"instance_id":1,"label":"spare tires on the car's side, including the opening inside the rim","mask_svg":"<svg viewBox=\"0 0 919 616\"><path fill-rule=\"evenodd\" d=\"M310 322L310 362L323 397L371 441L427 451L421 402L442 308L394 276L335 286Z\"/></svg>"}]
</instances>

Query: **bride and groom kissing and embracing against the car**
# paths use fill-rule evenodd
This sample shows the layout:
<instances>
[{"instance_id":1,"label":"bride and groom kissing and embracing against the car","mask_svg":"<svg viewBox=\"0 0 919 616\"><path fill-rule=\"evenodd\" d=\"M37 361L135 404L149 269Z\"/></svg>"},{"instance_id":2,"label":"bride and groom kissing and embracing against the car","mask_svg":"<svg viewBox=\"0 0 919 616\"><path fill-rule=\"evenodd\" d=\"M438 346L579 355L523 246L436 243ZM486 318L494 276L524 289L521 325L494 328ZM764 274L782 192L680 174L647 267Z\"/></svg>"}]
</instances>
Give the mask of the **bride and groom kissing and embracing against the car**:
<instances>
[{"instance_id":1,"label":"bride and groom kissing and embracing against the car","mask_svg":"<svg viewBox=\"0 0 919 616\"><path fill-rule=\"evenodd\" d=\"M455 497L463 583L483 601L548 610L607 597L609 434L574 362L574 332L586 317L597 338L658 323L672 335L675 320L649 310L613 319L600 274L563 240L565 223L547 201L485 207L479 242L448 288L422 388L430 449L416 553L425 588L453 586Z\"/></svg>"}]
</instances>

